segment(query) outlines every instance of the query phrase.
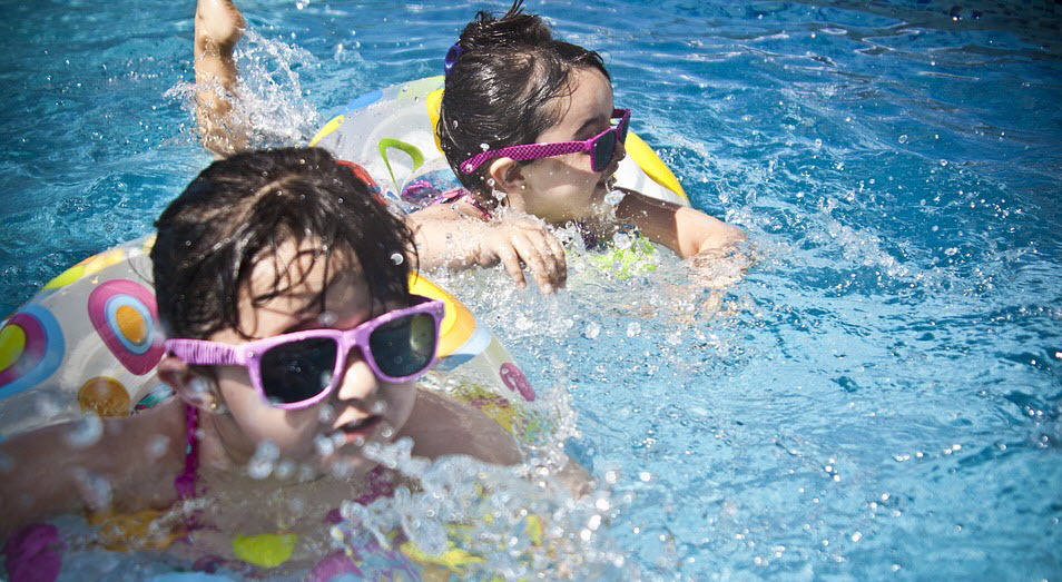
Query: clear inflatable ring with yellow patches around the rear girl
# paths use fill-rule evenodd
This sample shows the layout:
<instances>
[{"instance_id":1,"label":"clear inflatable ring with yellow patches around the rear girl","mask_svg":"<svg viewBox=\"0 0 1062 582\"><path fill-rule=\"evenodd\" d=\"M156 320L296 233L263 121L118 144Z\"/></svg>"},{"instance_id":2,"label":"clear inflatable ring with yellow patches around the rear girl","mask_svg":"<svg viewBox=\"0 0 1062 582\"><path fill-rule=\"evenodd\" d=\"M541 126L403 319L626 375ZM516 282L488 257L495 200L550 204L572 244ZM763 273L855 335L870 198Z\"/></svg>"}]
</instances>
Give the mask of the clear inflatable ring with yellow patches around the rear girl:
<instances>
[{"instance_id":1,"label":"clear inflatable ring with yellow patches around the rear girl","mask_svg":"<svg viewBox=\"0 0 1062 582\"><path fill-rule=\"evenodd\" d=\"M384 189L399 195L427 171L449 169L435 125L443 77L429 77L362 95L324 125L309 145L357 161L373 176L390 178ZM682 186L667 165L632 131L617 185L660 200L689 206ZM386 181L386 180L384 180Z\"/></svg>"}]
</instances>

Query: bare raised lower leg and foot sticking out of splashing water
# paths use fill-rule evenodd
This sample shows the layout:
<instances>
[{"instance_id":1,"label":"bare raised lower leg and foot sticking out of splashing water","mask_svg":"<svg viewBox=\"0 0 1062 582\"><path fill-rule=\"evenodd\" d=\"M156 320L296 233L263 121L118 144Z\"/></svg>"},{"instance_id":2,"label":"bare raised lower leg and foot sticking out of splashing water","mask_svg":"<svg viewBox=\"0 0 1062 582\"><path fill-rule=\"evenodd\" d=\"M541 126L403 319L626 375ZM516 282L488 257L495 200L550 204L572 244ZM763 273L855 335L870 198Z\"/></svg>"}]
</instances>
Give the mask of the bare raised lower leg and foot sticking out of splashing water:
<instances>
[{"instance_id":1,"label":"bare raised lower leg and foot sticking out of splashing water","mask_svg":"<svg viewBox=\"0 0 1062 582\"><path fill-rule=\"evenodd\" d=\"M233 47L244 34L244 17L232 0L198 0L195 22L196 119L203 146L219 158L246 149L247 135L233 127L228 93L236 87Z\"/></svg>"}]
</instances>

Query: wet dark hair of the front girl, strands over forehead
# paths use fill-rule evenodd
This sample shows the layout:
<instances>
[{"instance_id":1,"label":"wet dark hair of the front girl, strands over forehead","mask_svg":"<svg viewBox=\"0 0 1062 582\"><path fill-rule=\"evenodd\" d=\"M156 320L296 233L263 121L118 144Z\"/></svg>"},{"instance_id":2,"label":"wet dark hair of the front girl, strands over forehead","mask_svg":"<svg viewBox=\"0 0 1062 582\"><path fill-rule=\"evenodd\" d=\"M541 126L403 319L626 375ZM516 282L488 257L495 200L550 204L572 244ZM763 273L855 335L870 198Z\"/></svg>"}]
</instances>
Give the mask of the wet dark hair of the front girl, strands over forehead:
<instances>
[{"instance_id":1,"label":"wet dark hair of the front girl, strands over forehead","mask_svg":"<svg viewBox=\"0 0 1062 582\"><path fill-rule=\"evenodd\" d=\"M413 248L405 223L351 168L319 148L237 154L215 161L155 221L151 248L159 319L168 337L205 338L239 325L240 290L289 240L318 243L313 260L343 268L356 258L374 300L409 297ZM274 267L256 307L301 283ZM326 272L326 280L328 278ZM325 309L324 290L316 297Z\"/></svg>"}]
</instances>

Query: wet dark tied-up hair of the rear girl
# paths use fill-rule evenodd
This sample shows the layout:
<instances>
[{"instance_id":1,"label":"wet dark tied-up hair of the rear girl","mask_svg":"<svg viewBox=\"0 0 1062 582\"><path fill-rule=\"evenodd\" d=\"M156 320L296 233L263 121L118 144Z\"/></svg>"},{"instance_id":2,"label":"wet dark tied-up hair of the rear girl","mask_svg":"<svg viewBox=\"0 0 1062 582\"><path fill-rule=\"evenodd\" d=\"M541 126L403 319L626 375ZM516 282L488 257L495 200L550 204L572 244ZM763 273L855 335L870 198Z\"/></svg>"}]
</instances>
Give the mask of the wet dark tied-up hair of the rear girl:
<instances>
[{"instance_id":1,"label":"wet dark tied-up hair of the rear girl","mask_svg":"<svg viewBox=\"0 0 1062 582\"><path fill-rule=\"evenodd\" d=\"M549 24L515 0L500 19L480 11L458 40L460 56L446 73L439 115L440 142L453 172L481 194L489 166L462 174L462 161L491 149L533 144L563 111L553 99L571 95L572 75L594 69L611 81L594 51L553 38ZM491 204L490 199L481 203Z\"/></svg>"}]
</instances>

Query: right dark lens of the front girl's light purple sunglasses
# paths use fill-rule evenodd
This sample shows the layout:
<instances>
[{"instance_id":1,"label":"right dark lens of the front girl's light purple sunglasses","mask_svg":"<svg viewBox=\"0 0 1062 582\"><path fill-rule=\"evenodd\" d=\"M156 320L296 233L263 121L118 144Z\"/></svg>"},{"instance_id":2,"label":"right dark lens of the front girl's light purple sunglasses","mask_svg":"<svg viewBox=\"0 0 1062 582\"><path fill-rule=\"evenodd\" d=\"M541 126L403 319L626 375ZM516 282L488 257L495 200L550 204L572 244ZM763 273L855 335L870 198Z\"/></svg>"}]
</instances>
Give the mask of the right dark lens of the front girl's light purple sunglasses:
<instances>
[{"instance_id":1,"label":"right dark lens of the front girl's light purple sunglasses","mask_svg":"<svg viewBox=\"0 0 1062 582\"><path fill-rule=\"evenodd\" d=\"M392 377L410 376L431 362L437 337L435 319L427 314L415 314L374 329L368 336L368 347L381 372Z\"/></svg>"}]
</instances>

